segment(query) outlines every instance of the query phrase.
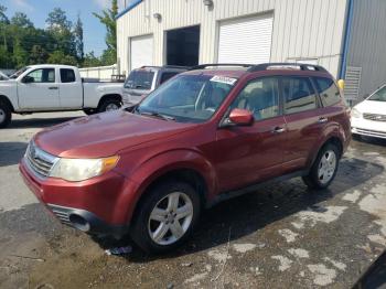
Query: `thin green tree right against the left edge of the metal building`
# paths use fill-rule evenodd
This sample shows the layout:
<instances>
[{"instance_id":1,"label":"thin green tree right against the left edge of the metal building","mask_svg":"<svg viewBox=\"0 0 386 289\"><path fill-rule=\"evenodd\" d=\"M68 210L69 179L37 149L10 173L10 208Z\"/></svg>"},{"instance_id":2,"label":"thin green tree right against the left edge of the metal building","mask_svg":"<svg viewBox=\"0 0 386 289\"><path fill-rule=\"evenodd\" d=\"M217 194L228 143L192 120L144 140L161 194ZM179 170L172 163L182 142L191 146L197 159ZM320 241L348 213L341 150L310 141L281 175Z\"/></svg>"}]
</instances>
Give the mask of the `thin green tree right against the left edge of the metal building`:
<instances>
[{"instance_id":1,"label":"thin green tree right against the left edge of the metal building","mask_svg":"<svg viewBox=\"0 0 386 289\"><path fill-rule=\"evenodd\" d=\"M101 14L93 13L100 23L106 26L106 45L107 50L103 53L103 61L105 65L115 64L117 62L117 22L118 2L111 0L111 8L101 11Z\"/></svg>"}]
</instances>

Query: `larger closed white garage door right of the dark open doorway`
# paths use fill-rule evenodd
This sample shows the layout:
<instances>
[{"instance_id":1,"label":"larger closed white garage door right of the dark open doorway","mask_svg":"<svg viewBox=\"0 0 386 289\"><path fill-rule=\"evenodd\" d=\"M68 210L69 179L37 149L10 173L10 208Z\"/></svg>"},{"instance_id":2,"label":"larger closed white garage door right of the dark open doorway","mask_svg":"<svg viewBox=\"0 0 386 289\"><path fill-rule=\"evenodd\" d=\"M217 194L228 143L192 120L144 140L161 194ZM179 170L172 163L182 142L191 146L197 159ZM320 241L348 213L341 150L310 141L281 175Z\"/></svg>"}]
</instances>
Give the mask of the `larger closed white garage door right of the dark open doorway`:
<instances>
[{"instance_id":1,"label":"larger closed white garage door right of the dark open doorway","mask_svg":"<svg viewBox=\"0 0 386 289\"><path fill-rule=\"evenodd\" d=\"M221 22L218 63L269 62L272 24L272 15Z\"/></svg>"}]
</instances>

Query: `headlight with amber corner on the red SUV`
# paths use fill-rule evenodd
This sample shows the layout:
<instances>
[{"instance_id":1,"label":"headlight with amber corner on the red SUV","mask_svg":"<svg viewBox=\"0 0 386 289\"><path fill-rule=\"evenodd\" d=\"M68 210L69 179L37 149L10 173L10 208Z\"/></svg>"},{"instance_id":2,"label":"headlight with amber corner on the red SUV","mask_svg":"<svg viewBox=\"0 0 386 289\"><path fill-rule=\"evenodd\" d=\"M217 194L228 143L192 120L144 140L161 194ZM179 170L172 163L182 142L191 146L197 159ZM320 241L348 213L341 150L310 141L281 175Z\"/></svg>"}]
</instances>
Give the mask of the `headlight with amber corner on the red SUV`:
<instances>
[{"instance_id":1,"label":"headlight with amber corner on the red SUV","mask_svg":"<svg viewBox=\"0 0 386 289\"><path fill-rule=\"evenodd\" d=\"M60 159L52 169L50 176L79 182L112 170L118 160L118 156L103 159Z\"/></svg>"}]
</instances>

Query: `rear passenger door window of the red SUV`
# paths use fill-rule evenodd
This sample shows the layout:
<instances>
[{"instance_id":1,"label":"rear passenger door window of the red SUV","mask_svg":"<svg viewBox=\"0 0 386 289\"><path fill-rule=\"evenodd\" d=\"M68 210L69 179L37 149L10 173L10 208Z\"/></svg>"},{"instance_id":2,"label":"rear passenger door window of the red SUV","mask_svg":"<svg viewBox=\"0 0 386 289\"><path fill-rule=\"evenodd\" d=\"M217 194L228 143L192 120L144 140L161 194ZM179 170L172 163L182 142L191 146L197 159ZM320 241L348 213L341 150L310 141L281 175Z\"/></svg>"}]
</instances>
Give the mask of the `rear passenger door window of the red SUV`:
<instances>
[{"instance_id":1,"label":"rear passenger door window of the red SUV","mask_svg":"<svg viewBox=\"0 0 386 289\"><path fill-rule=\"evenodd\" d=\"M305 77L283 77L285 113L296 114L318 108L317 95Z\"/></svg>"}]
</instances>

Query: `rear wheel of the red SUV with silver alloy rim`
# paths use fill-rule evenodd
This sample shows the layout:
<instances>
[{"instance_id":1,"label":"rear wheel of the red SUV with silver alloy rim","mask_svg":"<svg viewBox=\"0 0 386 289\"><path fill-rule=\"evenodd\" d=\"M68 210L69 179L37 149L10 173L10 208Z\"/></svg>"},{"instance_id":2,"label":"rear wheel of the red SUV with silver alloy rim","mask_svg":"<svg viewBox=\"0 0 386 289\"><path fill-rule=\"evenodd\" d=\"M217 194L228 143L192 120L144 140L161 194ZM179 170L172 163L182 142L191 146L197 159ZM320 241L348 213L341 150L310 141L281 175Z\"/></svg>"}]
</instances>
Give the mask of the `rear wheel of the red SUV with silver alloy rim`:
<instances>
[{"instance_id":1,"label":"rear wheel of the red SUV with silver alloy rim","mask_svg":"<svg viewBox=\"0 0 386 289\"><path fill-rule=\"evenodd\" d=\"M333 143L328 143L319 151L310 173L302 178L303 182L310 189L326 189L335 179L340 158L340 149Z\"/></svg>"}]
</instances>

